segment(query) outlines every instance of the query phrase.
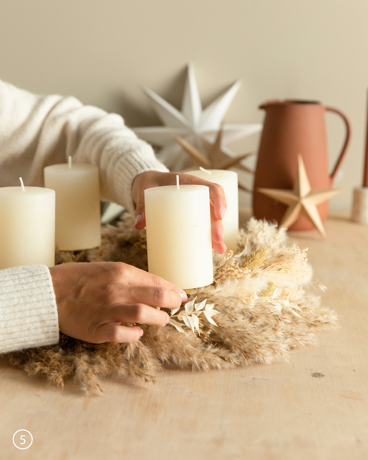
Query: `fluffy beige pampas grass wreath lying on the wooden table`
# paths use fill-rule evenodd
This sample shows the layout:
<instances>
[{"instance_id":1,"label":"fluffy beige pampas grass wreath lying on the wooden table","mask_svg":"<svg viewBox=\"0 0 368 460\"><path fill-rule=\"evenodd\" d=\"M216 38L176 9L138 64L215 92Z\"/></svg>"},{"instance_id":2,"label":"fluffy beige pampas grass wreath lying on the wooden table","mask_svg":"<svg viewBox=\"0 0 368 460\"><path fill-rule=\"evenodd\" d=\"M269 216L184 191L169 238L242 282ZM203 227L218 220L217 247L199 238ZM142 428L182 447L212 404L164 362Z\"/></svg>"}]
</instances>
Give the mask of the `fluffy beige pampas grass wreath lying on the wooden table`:
<instances>
[{"instance_id":1,"label":"fluffy beige pampas grass wreath lying on the wooden table","mask_svg":"<svg viewBox=\"0 0 368 460\"><path fill-rule=\"evenodd\" d=\"M145 231L134 229L132 215L104 226L102 234L101 247L58 252L57 264L122 261L147 270ZM214 253L213 284L194 290L190 299L214 304L216 326L204 316L195 333L184 323L184 334L170 324L143 325L144 335L134 344L95 345L60 334L57 345L8 353L6 361L51 384L63 386L74 379L83 391L98 392L103 391L101 380L112 375L154 382L163 366L207 371L285 356L311 344L317 328L336 325L334 312L305 293L308 285L319 285L306 251L286 247L286 240L285 230L252 218L239 233L236 254Z\"/></svg>"}]
</instances>

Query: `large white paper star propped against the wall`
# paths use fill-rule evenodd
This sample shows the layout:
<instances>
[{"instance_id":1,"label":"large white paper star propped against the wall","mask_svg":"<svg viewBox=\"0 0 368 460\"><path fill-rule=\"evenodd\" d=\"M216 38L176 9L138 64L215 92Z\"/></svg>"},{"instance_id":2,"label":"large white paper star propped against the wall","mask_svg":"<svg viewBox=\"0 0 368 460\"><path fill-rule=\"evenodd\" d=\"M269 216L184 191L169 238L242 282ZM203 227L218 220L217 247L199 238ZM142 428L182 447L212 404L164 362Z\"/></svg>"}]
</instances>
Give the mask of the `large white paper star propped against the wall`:
<instances>
[{"instance_id":1,"label":"large white paper star propped against the wall","mask_svg":"<svg viewBox=\"0 0 368 460\"><path fill-rule=\"evenodd\" d=\"M133 131L138 137L151 144L161 146L161 150L157 153L158 158L167 167L180 171L185 166L190 166L190 164L188 164L187 157L183 155L181 147L174 142L173 134L180 135L199 150L203 149L202 141L213 142L220 129L224 115L240 85L241 81L236 81L229 90L225 91L203 110L193 67L188 65L181 111L144 86L143 91L151 99L153 108L164 126L137 127L133 128ZM262 129L262 125L260 123L247 125L226 124L222 129L221 148L230 157L234 157L234 153L226 148L226 144L259 132Z\"/></svg>"}]
</instances>

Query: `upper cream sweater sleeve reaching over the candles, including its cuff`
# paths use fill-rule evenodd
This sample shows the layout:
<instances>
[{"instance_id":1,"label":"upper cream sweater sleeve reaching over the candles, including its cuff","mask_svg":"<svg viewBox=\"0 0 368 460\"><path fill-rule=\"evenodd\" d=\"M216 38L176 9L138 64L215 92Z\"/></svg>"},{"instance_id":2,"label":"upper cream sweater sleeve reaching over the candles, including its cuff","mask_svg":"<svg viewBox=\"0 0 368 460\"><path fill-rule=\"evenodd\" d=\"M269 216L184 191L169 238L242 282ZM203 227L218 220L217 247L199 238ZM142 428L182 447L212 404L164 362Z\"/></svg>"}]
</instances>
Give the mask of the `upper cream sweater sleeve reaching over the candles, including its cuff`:
<instances>
[{"instance_id":1,"label":"upper cream sweater sleeve reaching over the candles, including its cuff","mask_svg":"<svg viewBox=\"0 0 368 460\"><path fill-rule=\"evenodd\" d=\"M73 97L38 96L0 80L0 186L43 186L43 168L65 163L99 167L101 198L133 209L134 178L168 171L152 147L127 128L120 115Z\"/></svg>"}]
</instances>

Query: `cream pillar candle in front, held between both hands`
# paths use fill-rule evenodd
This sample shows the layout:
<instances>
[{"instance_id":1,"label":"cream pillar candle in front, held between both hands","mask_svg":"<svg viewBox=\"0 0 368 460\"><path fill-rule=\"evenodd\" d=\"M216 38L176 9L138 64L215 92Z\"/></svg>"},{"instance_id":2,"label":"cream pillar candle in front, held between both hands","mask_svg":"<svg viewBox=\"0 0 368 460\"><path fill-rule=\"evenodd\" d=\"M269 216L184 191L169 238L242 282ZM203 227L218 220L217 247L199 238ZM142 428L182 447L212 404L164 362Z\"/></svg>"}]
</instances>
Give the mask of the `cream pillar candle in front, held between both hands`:
<instances>
[{"instance_id":1,"label":"cream pillar candle in front, held between both hands","mask_svg":"<svg viewBox=\"0 0 368 460\"><path fill-rule=\"evenodd\" d=\"M213 282L209 189L166 185L144 190L148 271L181 289Z\"/></svg>"}]
</instances>

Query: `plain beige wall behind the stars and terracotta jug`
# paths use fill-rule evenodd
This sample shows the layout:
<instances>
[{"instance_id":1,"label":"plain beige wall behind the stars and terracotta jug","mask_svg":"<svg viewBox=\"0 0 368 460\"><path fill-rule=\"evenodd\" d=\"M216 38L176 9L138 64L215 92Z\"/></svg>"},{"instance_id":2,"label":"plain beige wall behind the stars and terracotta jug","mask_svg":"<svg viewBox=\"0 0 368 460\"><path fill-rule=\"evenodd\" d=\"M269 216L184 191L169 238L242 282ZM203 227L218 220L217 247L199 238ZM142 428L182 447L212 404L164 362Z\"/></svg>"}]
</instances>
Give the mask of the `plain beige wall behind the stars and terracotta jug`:
<instances>
[{"instance_id":1,"label":"plain beige wall behind the stars and terracotta jug","mask_svg":"<svg viewBox=\"0 0 368 460\"><path fill-rule=\"evenodd\" d=\"M124 116L161 124L141 83L180 108L185 64L206 106L238 77L228 123L263 120L268 98L317 99L345 112L352 141L331 201L350 209L362 181L368 86L365 0L0 0L0 78L37 93L74 95ZM330 165L344 138L327 115ZM258 136L238 153L257 149ZM242 180L251 183L251 177ZM242 203L249 202L242 194Z\"/></svg>"}]
</instances>

